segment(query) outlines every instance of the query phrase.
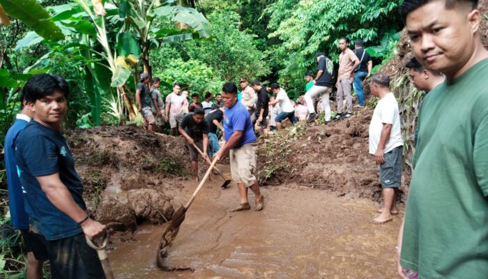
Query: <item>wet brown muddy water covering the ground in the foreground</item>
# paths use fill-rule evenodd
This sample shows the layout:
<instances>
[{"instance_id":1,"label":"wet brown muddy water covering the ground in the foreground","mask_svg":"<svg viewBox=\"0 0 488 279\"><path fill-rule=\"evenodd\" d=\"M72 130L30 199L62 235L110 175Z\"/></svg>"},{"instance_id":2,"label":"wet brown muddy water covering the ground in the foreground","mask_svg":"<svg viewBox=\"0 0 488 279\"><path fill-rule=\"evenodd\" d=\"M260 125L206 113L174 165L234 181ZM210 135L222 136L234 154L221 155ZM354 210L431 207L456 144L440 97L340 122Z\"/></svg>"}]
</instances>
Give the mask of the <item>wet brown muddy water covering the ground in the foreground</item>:
<instances>
[{"instance_id":1,"label":"wet brown muddy water covering the ground in the foreground","mask_svg":"<svg viewBox=\"0 0 488 279\"><path fill-rule=\"evenodd\" d=\"M236 185L219 185L202 188L167 258L170 266L195 272L158 270L155 252L165 225L142 225L134 241L115 243L109 253L116 278L397 278L401 219L370 224L374 202L274 186L262 188L264 211L229 213L238 204ZM188 182L175 202L185 202L195 187Z\"/></svg>"}]
</instances>

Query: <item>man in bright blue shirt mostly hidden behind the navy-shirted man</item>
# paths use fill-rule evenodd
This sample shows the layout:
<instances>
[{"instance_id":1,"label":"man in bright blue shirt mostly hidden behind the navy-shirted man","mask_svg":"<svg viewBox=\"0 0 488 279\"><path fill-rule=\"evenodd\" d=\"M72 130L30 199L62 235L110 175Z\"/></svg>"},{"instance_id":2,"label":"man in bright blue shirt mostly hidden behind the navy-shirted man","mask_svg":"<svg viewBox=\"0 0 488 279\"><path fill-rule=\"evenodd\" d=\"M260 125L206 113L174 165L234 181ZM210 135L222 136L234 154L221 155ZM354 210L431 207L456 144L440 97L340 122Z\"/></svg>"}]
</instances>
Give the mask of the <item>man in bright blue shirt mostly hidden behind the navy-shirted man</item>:
<instances>
[{"instance_id":1,"label":"man in bright blue shirt mostly hidden behind the navy-shirted man","mask_svg":"<svg viewBox=\"0 0 488 279\"><path fill-rule=\"evenodd\" d=\"M47 259L47 250L44 246L43 236L31 232L29 229L29 216L24 209L24 197L17 175L15 163L15 144L20 132L33 118L33 112L25 106L24 96L20 94L22 111L15 117L16 120L8 129L5 136L5 168L8 181L8 206L13 227L20 229L27 250L27 279L43 278L43 261Z\"/></svg>"}]
</instances>

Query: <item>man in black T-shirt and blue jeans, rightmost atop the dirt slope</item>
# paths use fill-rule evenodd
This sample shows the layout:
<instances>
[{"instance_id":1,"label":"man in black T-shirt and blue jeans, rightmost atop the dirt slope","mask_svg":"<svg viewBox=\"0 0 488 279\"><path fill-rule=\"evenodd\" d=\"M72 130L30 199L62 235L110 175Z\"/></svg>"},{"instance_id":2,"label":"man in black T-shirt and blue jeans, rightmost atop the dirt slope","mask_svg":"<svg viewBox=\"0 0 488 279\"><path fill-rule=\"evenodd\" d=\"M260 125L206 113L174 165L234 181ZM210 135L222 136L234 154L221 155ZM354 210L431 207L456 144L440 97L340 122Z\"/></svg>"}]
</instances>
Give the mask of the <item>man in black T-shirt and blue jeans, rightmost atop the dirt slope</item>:
<instances>
[{"instance_id":1,"label":"man in black T-shirt and blue jeans, rightmost atop the dirt slope","mask_svg":"<svg viewBox=\"0 0 488 279\"><path fill-rule=\"evenodd\" d=\"M356 40L356 43L354 43L354 54L356 54L359 59L359 66L354 72L353 82L354 91L356 91L356 95L358 95L358 105L356 108L365 107L363 82L369 77L369 75L371 75L371 70L373 68L373 61L371 61L371 56L369 56L369 53L367 53L367 51L363 48L364 45L363 40Z\"/></svg>"}]
</instances>

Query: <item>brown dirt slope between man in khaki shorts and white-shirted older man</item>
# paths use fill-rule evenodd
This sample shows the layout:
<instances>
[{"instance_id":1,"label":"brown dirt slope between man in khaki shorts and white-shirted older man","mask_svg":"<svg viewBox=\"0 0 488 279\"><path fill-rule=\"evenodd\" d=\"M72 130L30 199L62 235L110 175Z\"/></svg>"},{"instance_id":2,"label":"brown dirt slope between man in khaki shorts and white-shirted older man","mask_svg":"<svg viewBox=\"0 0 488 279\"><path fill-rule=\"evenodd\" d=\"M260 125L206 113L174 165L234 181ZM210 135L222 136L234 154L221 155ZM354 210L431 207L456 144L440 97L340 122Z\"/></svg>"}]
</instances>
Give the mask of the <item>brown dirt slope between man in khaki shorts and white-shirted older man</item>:
<instances>
[{"instance_id":1,"label":"brown dirt slope between man in khaki shorts and white-shirted older man","mask_svg":"<svg viewBox=\"0 0 488 279\"><path fill-rule=\"evenodd\" d=\"M296 126L260 140L258 176L270 185L298 183L337 195L381 199L379 167L369 155L372 111L329 123ZM404 172L404 186L409 174Z\"/></svg>"}]
</instances>

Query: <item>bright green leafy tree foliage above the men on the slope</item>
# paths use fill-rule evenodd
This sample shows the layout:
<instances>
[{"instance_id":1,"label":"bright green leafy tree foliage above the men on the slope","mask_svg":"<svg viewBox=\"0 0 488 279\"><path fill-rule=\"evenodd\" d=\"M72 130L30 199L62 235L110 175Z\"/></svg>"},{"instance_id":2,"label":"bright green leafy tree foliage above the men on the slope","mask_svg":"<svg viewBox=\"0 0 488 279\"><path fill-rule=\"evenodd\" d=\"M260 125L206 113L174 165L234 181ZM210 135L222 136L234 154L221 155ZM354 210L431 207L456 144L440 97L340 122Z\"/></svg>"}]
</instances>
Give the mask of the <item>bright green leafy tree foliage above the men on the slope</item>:
<instances>
[{"instance_id":1,"label":"bright green leafy tree foliage above the men on the slope","mask_svg":"<svg viewBox=\"0 0 488 279\"><path fill-rule=\"evenodd\" d=\"M280 83L297 95L303 75L316 71L314 54L324 52L337 62L343 36L377 45L384 34L399 31L397 7L402 1L277 0L266 8L269 38L282 41L269 50L279 57ZM352 47L352 45L351 45Z\"/></svg>"}]
</instances>

